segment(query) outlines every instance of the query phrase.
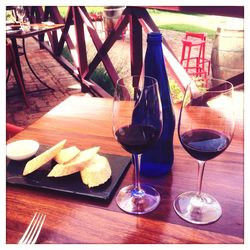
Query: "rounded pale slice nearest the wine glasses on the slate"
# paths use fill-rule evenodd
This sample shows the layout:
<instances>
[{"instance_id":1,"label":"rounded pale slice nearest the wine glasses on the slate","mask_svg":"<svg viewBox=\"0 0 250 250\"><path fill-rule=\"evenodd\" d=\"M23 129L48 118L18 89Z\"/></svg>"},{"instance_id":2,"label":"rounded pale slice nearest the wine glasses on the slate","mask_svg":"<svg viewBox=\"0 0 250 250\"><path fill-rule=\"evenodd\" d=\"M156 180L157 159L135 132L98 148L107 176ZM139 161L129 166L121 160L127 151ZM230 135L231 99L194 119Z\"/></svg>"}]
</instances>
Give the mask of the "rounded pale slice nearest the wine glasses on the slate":
<instances>
[{"instance_id":1,"label":"rounded pale slice nearest the wine glasses on the slate","mask_svg":"<svg viewBox=\"0 0 250 250\"><path fill-rule=\"evenodd\" d=\"M111 176L108 159L96 154L80 172L82 182L88 187L96 187L105 183Z\"/></svg>"}]
</instances>

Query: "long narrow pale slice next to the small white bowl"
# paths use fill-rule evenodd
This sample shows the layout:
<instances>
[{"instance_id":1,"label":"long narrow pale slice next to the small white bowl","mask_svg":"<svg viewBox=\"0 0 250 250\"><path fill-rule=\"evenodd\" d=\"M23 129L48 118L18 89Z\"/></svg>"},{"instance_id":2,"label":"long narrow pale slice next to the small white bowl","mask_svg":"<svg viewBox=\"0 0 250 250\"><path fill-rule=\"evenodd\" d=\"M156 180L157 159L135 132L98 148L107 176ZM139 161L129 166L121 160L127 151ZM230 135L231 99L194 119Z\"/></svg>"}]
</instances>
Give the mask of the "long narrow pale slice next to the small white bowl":
<instances>
[{"instance_id":1,"label":"long narrow pale slice next to the small white bowl","mask_svg":"<svg viewBox=\"0 0 250 250\"><path fill-rule=\"evenodd\" d=\"M28 175L38 168L40 168L42 165L53 159L58 152L64 147L67 140L60 141L53 147L49 148L48 150L44 151L40 155L36 156L35 158L28 161L25 165L25 168L23 170L23 175Z\"/></svg>"}]
</instances>

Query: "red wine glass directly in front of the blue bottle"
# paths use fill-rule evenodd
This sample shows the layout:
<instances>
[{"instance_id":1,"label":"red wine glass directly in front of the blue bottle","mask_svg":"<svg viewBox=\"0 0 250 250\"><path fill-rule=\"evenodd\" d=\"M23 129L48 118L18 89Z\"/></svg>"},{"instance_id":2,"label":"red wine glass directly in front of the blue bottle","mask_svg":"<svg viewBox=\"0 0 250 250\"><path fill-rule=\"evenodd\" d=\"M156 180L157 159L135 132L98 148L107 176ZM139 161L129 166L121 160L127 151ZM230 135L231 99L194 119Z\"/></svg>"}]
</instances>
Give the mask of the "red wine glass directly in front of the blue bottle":
<instances>
[{"instance_id":1,"label":"red wine glass directly in front of the blue bottle","mask_svg":"<svg viewBox=\"0 0 250 250\"><path fill-rule=\"evenodd\" d=\"M121 146L132 154L134 184L122 188L117 205L127 213L145 214L160 202L160 194L140 184L141 154L149 149L162 132L162 106L158 82L148 76L128 76L117 81L113 101L113 133Z\"/></svg>"}]
</instances>

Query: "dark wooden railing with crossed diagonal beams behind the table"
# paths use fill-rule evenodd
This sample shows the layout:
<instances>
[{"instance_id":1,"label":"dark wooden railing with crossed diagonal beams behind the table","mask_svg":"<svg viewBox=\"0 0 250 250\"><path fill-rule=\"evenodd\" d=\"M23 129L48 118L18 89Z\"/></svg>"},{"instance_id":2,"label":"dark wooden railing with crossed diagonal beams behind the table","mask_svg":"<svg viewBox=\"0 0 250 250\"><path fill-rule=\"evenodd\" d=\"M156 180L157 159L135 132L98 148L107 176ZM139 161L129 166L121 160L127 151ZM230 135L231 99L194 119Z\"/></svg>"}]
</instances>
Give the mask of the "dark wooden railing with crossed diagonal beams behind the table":
<instances>
[{"instance_id":1,"label":"dark wooden railing with crossed diagonal beams behind the table","mask_svg":"<svg viewBox=\"0 0 250 250\"><path fill-rule=\"evenodd\" d=\"M48 17L55 23L65 24L62 34L58 37L56 32L48 34L50 45L44 41L44 36L38 38L40 45L47 49L53 57L62 64L72 75L74 75L80 82L83 92L90 92L95 96L110 97L110 95L99 87L98 84L93 82L90 77L100 62L103 63L112 83L115 85L119 76L116 69L111 62L108 51L112 48L116 40L122 34L124 29L129 25L130 27L130 58L131 58L131 74L140 74L143 67L143 55L142 55L142 31L159 31L146 8L144 7L126 7L122 16L116 23L114 31L109 34L104 42L98 36L98 33L93 25L91 18L83 6L69 6L66 17L63 18L56 6L30 6L26 7L27 13L32 22L46 21ZM160 9L170 9L174 11L187 12L196 9L196 7L158 7ZM174 9L173 9L174 8ZM184 8L184 9L181 9ZM186 8L186 9L185 9ZM190 9L191 8L191 9ZM236 8L236 9L235 9ZM213 14L213 10L216 14L229 15L229 16L244 16L243 7L224 7L224 8L204 8L196 9L196 12L205 12L206 14ZM219 12L219 13L218 13ZM234 14L234 15L233 15ZM74 25L76 44L72 42L69 35L69 28ZM86 39L84 25L92 38L93 44L96 47L97 53L93 60L88 63ZM74 63L71 64L62 56L64 44L66 43ZM175 78L182 90L190 82L190 78L183 67L180 65L177 57L172 51L167 41L163 38L163 51L164 57L171 75Z\"/></svg>"}]
</instances>

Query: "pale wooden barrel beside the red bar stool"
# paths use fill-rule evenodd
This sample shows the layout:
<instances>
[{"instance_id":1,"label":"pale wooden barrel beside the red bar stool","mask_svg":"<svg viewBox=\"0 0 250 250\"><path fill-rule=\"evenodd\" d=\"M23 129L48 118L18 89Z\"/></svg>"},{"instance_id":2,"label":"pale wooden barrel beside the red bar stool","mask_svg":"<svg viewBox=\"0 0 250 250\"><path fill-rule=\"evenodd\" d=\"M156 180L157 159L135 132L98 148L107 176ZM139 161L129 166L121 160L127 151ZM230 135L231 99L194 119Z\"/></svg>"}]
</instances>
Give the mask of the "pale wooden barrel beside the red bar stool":
<instances>
[{"instance_id":1,"label":"pale wooden barrel beside the red bar stool","mask_svg":"<svg viewBox=\"0 0 250 250\"><path fill-rule=\"evenodd\" d=\"M244 72L244 30L217 28L211 68L214 78L225 80Z\"/></svg>"}]
</instances>

